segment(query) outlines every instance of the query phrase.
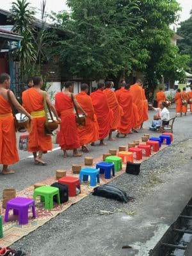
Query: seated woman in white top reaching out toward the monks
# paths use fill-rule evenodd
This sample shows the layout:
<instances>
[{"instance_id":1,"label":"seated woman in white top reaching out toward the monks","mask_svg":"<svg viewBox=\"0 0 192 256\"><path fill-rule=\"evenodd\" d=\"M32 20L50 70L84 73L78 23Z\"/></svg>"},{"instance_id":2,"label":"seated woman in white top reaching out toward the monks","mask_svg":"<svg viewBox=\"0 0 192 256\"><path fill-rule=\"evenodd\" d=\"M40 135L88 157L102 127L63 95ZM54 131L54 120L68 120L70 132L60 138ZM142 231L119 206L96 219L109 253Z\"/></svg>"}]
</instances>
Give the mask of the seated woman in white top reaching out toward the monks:
<instances>
[{"instance_id":1,"label":"seated woman in white top reaching out toward the monks","mask_svg":"<svg viewBox=\"0 0 192 256\"><path fill-rule=\"evenodd\" d=\"M166 108L166 102L161 102L160 108L153 108L155 111L159 111L159 115L156 116L156 120L152 121L152 125L149 127L150 130L159 131L162 125L168 125L170 120L170 112Z\"/></svg>"}]
</instances>

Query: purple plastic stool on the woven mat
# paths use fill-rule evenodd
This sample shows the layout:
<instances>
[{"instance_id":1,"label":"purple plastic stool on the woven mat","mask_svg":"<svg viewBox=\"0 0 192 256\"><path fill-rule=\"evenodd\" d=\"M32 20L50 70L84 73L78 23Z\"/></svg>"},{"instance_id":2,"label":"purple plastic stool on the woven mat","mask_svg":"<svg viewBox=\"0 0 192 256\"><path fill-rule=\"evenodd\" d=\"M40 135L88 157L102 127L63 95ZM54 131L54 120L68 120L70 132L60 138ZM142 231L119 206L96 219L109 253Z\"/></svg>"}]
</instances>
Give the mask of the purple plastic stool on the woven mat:
<instances>
[{"instance_id":1,"label":"purple plastic stool on the woven mat","mask_svg":"<svg viewBox=\"0 0 192 256\"><path fill-rule=\"evenodd\" d=\"M32 207L33 218L35 218L35 201L33 199L26 197L16 197L9 200L6 203L4 221L8 222L9 211L13 209L13 215L19 215L19 225L27 224L29 207Z\"/></svg>"}]
</instances>

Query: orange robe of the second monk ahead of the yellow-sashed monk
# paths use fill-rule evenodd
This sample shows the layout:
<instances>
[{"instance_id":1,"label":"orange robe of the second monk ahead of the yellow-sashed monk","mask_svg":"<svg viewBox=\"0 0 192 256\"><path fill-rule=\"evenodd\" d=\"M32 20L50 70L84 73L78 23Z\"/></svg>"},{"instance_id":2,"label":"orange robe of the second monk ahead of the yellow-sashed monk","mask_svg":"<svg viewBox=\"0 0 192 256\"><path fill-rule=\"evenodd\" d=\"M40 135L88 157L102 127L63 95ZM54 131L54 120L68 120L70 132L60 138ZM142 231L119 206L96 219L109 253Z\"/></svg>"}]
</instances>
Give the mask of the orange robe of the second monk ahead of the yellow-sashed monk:
<instances>
[{"instance_id":1,"label":"orange robe of the second monk ahead of the yellow-sashed monk","mask_svg":"<svg viewBox=\"0 0 192 256\"><path fill-rule=\"evenodd\" d=\"M86 116L86 127L78 128L80 145L97 141L99 138L99 125L93 109L92 99L86 92L80 92L76 95L77 102L84 109Z\"/></svg>"}]
</instances>

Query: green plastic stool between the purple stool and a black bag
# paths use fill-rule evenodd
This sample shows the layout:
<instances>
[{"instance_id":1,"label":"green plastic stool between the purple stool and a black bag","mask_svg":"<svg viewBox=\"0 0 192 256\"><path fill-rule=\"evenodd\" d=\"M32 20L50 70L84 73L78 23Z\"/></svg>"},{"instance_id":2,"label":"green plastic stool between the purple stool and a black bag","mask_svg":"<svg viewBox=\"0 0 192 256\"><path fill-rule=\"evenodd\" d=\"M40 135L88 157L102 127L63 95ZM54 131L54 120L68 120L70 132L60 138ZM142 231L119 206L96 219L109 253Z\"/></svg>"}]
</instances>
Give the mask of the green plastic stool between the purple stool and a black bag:
<instances>
[{"instance_id":1,"label":"green plastic stool between the purple stool and a black bag","mask_svg":"<svg viewBox=\"0 0 192 256\"><path fill-rule=\"evenodd\" d=\"M51 186L42 186L34 190L33 200L36 200L36 196L40 196L40 202L45 202L45 209L51 210L53 208L54 195L57 196L58 204L60 204L60 190Z\"/></svg>"}]
</instances>

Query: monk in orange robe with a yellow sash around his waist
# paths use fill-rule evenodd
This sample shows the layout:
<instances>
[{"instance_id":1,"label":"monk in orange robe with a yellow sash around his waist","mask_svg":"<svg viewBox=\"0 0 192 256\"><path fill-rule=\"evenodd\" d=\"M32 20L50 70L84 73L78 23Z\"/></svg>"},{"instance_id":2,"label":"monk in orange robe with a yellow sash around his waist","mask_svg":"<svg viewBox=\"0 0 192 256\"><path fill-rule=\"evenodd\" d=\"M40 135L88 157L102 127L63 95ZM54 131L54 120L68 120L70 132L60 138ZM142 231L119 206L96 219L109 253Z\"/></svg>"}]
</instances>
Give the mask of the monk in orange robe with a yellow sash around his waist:
<instances>
[{"instance_id":1,"label":"monk in orange robe with a yellow sash around his waist","mask_svg":"<svg viewBox=\"0 0 192 256\"><path fill-rule=\"evenodd\" d=\"M52 113L54 113L58 121L60 121L60 118L47 93L41 90L42 86L42 77L33 77L33 87L22 93L22 104L33 116L33 129L29 134L28 151L33 152L35 164L45 165L47 163L44 162L42 156L48 150L52 150L52 140L51 135L45 134L46 113L44 109L44 93L47 105Z\"/></svg>"}]
</instances>

